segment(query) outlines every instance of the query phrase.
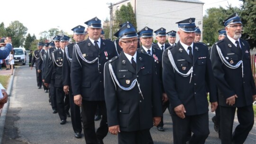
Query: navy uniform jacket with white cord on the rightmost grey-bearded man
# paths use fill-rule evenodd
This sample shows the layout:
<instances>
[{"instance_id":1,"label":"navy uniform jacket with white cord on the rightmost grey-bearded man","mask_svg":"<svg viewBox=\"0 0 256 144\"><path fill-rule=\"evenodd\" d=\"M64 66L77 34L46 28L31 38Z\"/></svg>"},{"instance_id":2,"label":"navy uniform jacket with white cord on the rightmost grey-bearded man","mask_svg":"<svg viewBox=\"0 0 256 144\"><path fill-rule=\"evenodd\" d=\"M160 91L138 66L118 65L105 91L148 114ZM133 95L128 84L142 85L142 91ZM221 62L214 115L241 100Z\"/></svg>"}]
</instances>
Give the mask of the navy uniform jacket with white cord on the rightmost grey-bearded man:
<instances>
[{"instance_id":1,"label":"navy uniform jacket with white cord on the rightmost grey-bearded man","mask_svg":"<svg viewBox=\"0 0 256 144\"><path fill-rule=\"evenodd\" d=\"M245 40L240 38L239 41L241 49L233 45L228 36L212 46L210 57L214 76L219 88L219 105L221 106L244 107L251 105L253 103L252 96L256 94L250 62L250 48ZM217 52L217 45L231 65L236 65L240 60L243 61L243 77L242 65L237 69L231 69L222 63ZM226 99L235 94L238 96L236 103L233 106L228 106Z\"/></svg>"}]
</instances>

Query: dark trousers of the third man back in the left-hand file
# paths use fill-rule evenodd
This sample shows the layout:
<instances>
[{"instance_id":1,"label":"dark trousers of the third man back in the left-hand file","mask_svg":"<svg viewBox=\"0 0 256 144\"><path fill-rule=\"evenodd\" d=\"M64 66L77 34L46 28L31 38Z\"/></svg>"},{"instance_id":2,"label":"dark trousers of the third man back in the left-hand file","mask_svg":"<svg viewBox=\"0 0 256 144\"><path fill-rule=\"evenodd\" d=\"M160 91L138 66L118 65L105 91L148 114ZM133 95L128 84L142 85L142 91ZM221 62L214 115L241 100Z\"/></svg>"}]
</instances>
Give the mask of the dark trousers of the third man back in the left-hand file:
<instances>
[{"instance_id":1,"label":"dark trousers of the third man back in the left-hand file","mask_svg":"<svg viewBox=\"0 0 256 144\"><path fill-rule=\"evenodd\" d=\"M59 117L61 120L66 120L67 114L64 108L65 93L63 91L63 87L55 87L55 90L56 90L56 102L57 102Z\"/></svg>"}]
</instances>

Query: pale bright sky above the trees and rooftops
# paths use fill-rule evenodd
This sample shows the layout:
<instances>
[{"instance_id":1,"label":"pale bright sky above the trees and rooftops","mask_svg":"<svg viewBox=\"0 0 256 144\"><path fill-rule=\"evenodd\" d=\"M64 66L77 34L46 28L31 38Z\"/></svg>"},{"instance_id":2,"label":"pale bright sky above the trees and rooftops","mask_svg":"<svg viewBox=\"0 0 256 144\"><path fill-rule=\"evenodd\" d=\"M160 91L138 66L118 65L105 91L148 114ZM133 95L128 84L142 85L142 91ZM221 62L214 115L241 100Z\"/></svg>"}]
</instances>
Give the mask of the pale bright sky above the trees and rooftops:
<instances>
[{"instance_id":1,"label":"pale bright sky above the trees and rooftops","mask_svg":"<svg viewBox=\"0 0 256 144\"><path fill-rule=\"evenodd\" d=\"M12 21L18 20L27 27L27 34L39 33L51 28L58 28L69 34L71 29L78 25L85 26L85 21L94 18L103 22L110 18L110 3L120 0L4 0L1 2L0 23L8 27ZM203 11L222 6L226 8L228 3L232 7L242 4L239 0L201 0ZM203 13L203 15L204 15Z\"/></svg>"}]
</instances>

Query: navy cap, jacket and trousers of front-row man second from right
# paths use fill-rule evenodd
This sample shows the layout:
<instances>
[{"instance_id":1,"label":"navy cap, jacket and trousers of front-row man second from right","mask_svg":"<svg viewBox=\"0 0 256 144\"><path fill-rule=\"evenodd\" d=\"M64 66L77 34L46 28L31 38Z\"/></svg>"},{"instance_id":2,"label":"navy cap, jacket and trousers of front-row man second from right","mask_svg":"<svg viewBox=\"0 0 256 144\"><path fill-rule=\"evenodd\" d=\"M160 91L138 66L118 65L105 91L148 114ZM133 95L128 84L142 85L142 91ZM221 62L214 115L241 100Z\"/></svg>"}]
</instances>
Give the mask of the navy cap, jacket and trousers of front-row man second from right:
<instances>
[{"instance_id":1,"label":"navy cap, jacket and trousers of front-row man second from right","mask_svg":"<svg viewBox=\"0 0 256 144\"><path fill-rule=\"evenodd\" d=\"M184 32L195 31L195 18L178 22ZM184 32L182 32L184 31ZM191 42L192 43L192 42ZM188 46L188 45L187 45ZM163 54L163 82L170 101L174 127L174 144L204 144L210 134L208 99L205 85L210 90L210 102L217 101L216 87L211 69L208 49L205 45L192 43L192 57L179 41ZM190 46L187 47L188 49ZM185 117L179 117L174 108L185 108ZM187 138L193 132L190 140Z\"/></svg>"}]
</instances>

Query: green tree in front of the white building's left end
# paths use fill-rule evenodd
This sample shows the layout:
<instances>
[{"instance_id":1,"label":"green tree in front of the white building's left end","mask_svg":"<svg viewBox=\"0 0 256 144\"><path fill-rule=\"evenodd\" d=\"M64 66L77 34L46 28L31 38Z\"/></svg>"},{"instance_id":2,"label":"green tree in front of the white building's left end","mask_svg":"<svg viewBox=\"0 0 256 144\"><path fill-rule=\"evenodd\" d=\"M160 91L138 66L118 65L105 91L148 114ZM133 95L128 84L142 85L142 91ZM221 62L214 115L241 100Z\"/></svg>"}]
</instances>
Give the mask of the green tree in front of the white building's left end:
<instances>
[{"instance_id":1,"label":"green tree in front of the white building's left end","mask_svg":"<svg viewBox=\"0 0 256 144\"><path fill-rule=\"evenodd\" d=\"M135 29L137 29L136 16L133 12L132 6L128 3L128 6L122 5L120 10L116 10L114 19L114 25L112 27L112 34L115 34L119 30L119 25L129 21Z\"/></svg>"}]
</instances>

